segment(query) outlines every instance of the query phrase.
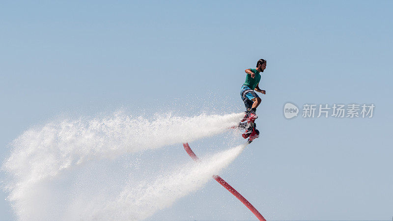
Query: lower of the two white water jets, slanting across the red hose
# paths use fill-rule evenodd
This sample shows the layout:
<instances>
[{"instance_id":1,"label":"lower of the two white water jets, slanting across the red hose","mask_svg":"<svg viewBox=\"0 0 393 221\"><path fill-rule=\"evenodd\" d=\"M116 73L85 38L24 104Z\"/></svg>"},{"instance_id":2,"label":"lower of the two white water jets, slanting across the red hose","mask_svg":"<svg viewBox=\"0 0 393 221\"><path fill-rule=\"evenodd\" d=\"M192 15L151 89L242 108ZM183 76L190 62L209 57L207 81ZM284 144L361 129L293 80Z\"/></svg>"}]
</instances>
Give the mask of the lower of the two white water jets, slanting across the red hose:
<instances>
[{"instance_id":1,"label":"lower of the two white water jets, slanting across the red hose","mask_svg":"<svg viewBox=\"0 0 393 221\"><path fill-rule=\"evenodd\" d=\"M217 153L199 163L190 161L151 182L130 182L112 200L79 203L65 220L142 220L171 206L180 197L203 187L213 174L229 165L247 144ZM86 203L88 206L86 206ZM74 205L75 206L75 205Z\"/></svg>"}]
</instances>

